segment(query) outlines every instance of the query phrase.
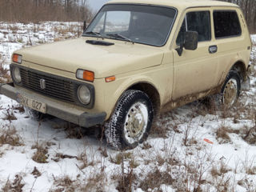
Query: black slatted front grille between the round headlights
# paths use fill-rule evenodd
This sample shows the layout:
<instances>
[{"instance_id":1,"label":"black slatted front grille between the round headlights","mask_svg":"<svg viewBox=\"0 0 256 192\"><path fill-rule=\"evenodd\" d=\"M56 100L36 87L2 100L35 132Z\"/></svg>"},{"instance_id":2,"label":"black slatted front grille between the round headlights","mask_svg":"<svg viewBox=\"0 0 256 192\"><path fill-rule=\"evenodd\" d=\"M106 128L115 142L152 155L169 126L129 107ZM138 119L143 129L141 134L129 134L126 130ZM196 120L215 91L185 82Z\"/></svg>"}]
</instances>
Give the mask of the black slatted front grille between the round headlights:
<instances>
[{"instance_id":1,"label":"black slatted front grille between the round headlights","mask_svg":"<svg viewBox=\"0 0 256 192\"><path fill-rule=\"evenodd\" d=\"M38 71L31 71L20 68L22 76L22 86L29 90L34 90L40 94L58 98L66 102L76 102L76 90L78 84L68 79L63 79L50 74L41 74ZM40 86L40 79L44 79L46 88Z\"/></svg>"}]
</instances>

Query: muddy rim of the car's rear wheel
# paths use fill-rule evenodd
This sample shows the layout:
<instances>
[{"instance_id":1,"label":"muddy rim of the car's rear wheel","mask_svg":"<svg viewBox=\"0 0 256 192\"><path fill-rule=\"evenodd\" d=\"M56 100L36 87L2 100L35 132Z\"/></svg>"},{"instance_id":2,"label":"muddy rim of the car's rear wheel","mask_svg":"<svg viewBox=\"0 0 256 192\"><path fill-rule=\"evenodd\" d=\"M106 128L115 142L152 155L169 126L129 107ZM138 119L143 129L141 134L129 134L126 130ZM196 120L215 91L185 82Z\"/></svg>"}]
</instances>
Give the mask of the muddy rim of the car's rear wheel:
<instances>
[{"instance_id":1,"label":"muddy rim of the car's rear wheel","mask_svg":"<svg viewBox=\"0 0 256 192\"><path fill-rule=\"evenodd\" d=\"M238 82L231 78L223 91L223 102L225 106L232 106L238 95Z\"/></svg>"}]
</instances>

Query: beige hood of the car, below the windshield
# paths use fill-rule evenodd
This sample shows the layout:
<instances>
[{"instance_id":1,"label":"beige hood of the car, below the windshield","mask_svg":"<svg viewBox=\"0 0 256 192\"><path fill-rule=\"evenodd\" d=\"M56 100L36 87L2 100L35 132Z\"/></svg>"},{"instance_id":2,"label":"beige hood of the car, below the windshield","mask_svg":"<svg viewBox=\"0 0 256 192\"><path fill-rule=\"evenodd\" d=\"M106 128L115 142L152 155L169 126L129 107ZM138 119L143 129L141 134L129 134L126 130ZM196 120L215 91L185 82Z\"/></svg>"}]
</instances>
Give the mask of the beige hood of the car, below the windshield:
<instances>
[{"instance_id":1,"label":"beige hood of the car, below the windshield","mask_svg":"<svg viewBox=\"0 0 256 192\"><path fill-rule=\"evenodd\" d=\"M32 46L18 50L22 60L58 70L75 73L76 70L94 71L95 78L141 70L162 63L162 48L105 39L112 46L86 43L88 38L76 38ZM95 40L95 38L94 38Z\"/></svg>"}]
</instances>

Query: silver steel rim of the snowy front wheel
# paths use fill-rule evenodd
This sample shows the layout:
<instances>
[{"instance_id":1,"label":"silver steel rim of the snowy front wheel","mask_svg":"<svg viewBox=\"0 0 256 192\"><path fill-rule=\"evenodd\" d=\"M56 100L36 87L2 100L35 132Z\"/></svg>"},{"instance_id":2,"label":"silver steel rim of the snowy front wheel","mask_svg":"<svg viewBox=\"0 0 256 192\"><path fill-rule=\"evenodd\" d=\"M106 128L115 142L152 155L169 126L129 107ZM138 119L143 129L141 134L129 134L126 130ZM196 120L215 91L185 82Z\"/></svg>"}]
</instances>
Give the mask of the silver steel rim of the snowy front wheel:
<instances>
[{"instance_id":1,"label":"silver steel rim of the snowy front wheel","mask_svg":"<svg viewBox=\"0 0 256 192\"><path fill-rule=\"evenodd\" d=\"M146 132L148 124L148 110L142 102L136 102L126 114L124 134L127 142L139 142Z\"/></svg>"}]
</instances>

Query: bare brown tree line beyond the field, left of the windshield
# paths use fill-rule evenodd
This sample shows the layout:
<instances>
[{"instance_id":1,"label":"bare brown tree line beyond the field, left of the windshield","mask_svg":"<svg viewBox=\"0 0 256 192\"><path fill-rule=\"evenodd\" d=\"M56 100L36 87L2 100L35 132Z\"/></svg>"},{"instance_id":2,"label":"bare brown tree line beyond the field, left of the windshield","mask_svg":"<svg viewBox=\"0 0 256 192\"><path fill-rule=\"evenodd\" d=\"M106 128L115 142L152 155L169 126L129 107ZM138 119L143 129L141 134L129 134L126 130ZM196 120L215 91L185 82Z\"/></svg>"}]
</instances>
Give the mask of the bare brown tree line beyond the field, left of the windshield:
<instances>
[{"instance_id":1,"label":"bare brown tree line beyond the field, left of the windshield","mask_svg":"<svg viewBox=\"0 0 256 192\"><path fill-rule=\"evenodd\" d=\"M86 0L0 0L0 21L87 21L93 13Z\"/></svg>"}]
</instances>

